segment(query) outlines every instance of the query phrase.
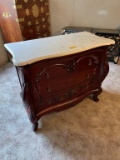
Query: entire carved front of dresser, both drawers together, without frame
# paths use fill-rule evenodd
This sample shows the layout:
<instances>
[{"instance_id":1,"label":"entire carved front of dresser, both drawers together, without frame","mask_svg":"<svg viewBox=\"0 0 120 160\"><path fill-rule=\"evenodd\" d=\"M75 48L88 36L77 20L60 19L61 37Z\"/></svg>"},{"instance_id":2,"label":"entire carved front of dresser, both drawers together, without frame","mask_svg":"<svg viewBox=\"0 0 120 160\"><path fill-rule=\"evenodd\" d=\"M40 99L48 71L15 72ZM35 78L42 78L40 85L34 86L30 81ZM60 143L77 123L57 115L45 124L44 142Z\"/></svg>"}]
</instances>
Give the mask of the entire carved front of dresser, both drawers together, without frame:
<instances>
[{"instance_id":1,"label":"entire carved front of dresser, both drawers together, without frame","mask_svg":"<svg viewBox=\"0 0 120 160\"><path fill-rule=\"evenodd\" d=\"M89 92L98 85L101 52L41 61L31 67L37 112Z\"/></svg>"}]
</instances>

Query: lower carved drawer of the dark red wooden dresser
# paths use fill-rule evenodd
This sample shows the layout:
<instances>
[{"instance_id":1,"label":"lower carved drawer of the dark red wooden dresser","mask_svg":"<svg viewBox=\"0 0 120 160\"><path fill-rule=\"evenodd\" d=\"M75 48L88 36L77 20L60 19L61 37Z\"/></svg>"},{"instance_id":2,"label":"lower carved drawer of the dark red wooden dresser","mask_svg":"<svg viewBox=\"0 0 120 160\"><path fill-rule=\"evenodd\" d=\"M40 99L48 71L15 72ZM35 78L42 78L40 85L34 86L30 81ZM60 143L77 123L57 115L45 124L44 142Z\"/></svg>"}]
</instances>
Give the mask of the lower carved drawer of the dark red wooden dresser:
<instances>
[{"instance_id":1,"label":"lower carved drawer of the dark red wooden dresser","mask_svg":"<svg viewBox=\"0 0 120 160\"><path fill-rule=\"evenodd\" d=\"M67 102L79 97L98 86L98 76L93 74L92 68L78 72L65 79L63 77L53 82L34 83L32 92L37 112L45 108Z\"/></svg>"}]
</instances>

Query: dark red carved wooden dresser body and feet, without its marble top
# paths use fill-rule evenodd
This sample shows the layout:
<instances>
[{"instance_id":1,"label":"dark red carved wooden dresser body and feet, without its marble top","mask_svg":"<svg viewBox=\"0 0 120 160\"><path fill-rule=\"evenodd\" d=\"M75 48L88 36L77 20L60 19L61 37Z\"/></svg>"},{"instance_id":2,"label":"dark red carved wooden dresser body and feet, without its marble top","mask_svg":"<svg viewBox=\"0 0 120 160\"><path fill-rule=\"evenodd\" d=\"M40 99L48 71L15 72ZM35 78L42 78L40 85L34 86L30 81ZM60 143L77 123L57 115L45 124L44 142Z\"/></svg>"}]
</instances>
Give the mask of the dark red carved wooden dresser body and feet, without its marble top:
<instances>
[{"instance_id":1,"label":"dark red carved wooden dresser body and feet, without its marble top","mask_svg":"<svg viewBox=\"0 0 120 160\"><path fill-rule=\"evenodd\" d=\"M49 112L72 107L89 95L97 102L109 70L106 58L106 47L99 47L16 67L33 130Z\"/></svg>"}]
</instances>

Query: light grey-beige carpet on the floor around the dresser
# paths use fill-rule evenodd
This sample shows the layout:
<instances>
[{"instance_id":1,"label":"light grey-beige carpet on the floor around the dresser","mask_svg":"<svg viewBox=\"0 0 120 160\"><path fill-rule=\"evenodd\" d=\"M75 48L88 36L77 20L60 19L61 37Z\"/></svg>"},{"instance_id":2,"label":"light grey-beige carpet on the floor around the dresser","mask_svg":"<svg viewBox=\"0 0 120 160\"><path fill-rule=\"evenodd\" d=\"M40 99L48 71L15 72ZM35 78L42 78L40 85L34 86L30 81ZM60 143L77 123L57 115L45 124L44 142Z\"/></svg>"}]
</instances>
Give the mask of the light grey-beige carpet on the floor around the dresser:
<instances>
[{"instance_id":1,"label":"light grey-beige carpet on the floor around the dresser","mask_svg":"<svg viewBox=\"0 0 120 160\"><path fill-rule=\"evenodd\" d=\"M31 130L11 63L0 68L0 160L119 160L120 66L110 63L100 101L51 113Z\"/></svg>"}]
</instances>

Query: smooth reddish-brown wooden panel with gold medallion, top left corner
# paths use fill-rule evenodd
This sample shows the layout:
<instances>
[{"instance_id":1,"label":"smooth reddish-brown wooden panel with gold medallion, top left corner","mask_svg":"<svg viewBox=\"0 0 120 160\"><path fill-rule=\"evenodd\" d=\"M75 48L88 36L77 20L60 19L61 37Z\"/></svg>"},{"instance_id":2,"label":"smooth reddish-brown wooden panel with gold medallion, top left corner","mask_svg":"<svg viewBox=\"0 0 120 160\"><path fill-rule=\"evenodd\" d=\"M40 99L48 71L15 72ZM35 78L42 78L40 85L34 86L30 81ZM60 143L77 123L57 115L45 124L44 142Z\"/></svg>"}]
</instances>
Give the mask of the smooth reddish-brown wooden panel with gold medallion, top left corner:
<instances>
[{"instance_id":1,"label":"smooth reddish-brown wooden panel with gold medallion, top left corner","mask_svg":"<svg viewBox=\"0 0 120 160\"><path fill-rule=\"evenodd\" d=\"M16 42L22 41L21 29L16 21L17 12L14 0L0 1L0 27L3 33L4 41Z\"/></svg>"}]
</instances>

